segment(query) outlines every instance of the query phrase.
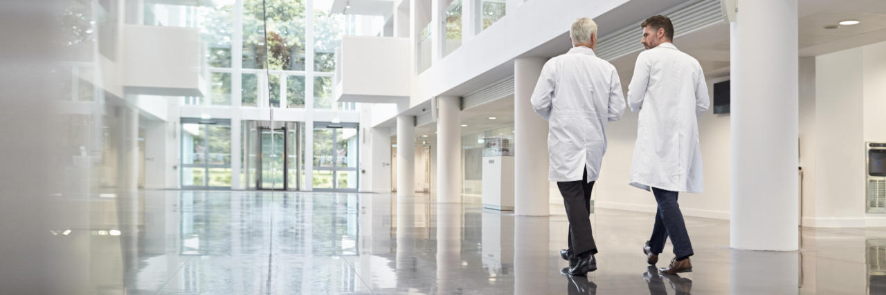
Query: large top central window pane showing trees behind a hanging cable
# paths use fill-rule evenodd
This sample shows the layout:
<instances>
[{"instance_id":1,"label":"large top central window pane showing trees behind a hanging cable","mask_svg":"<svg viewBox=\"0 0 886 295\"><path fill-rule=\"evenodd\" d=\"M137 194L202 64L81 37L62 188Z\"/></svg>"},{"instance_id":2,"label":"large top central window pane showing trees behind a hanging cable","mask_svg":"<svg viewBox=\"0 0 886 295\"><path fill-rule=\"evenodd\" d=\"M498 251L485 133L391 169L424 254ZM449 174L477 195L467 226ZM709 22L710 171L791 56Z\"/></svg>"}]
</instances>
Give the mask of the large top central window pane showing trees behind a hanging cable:
<instances>
[{"instance_id":1,"label":"large top central window pane showing trees behind a hanging cable","mask_svg":"<svg viewBox=\"0 0 886 295\"><path fill-rule=\"evenodd\" d=\"M305 70L305 3L305 0L243 2L244 68L262 69L267 58L270 70Z\"/></svg>"}]
</instances>

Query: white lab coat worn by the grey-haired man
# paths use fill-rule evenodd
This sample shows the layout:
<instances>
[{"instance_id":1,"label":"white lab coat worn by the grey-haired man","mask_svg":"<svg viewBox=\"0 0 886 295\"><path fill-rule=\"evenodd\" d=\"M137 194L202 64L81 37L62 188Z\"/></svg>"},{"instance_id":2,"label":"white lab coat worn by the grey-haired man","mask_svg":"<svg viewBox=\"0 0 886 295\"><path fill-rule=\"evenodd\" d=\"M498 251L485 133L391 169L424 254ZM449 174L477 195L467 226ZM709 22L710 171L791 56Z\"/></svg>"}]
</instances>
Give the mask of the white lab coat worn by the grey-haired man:
<instances>
[{"instance_id":1,"label":"white lab coat worn by the grey-haired man","mask_svg":"<svg viewBox=\"0 0 886 295\"><path fill-rule=\"evenodd\" d=\"M615 66L587 47L572 48L545 63L532 108L548 120L551 181L587 182L600 176L606 124L621 118L625 98Z\"/></svg>"}]
</instances>

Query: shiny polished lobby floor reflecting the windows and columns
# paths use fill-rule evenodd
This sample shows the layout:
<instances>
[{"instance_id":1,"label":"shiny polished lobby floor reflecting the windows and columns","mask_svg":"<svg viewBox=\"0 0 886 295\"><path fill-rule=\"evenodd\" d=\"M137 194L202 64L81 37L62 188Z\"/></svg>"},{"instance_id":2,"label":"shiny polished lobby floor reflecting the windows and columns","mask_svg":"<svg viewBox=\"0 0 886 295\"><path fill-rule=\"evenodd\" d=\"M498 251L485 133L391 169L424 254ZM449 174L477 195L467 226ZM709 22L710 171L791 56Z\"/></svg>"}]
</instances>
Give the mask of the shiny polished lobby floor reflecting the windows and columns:
<instances>
[{"instance_id":1,"label":"shiny polished lobby floor reflecting the windows and columns","mask_svg":"<svg viewBox=\"0 0 886 295\"><path fill-rule=\"evenodd\" d=\"M650 196L651 198L651 196ZM427 195L145 191L82 200L89 269L108 294L882 294L886 229L802 229L799 252L728 247L727 221L687 217L694 272L641 253L652 214L596 208L599 270L561 276L552 216ZM68 235L68 234L65 234ZM83 235L81 235L83 236ZM671 260L665 248L659 266Z\"/></svg>"}]
</instances>

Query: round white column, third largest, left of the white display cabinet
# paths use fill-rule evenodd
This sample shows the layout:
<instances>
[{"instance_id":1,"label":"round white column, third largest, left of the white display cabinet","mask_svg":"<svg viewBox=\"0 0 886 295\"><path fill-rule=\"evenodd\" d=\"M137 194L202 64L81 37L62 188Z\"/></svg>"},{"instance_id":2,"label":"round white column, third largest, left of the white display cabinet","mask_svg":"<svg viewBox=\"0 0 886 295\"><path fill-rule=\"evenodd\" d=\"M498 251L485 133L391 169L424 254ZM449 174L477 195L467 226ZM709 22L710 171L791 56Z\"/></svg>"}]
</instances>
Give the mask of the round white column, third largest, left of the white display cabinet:
<instances>
[{"instance_id":1,"label":"round white column, third largest, left of the white display cabinet","mask_svg":"<svg viewBox=\"0 0 886 295\"><path fill-rule=\"evenodd\" d=\"M437 97L437 202L461 202L462 119L458 96Z\"/></svg>"}]
</instances>

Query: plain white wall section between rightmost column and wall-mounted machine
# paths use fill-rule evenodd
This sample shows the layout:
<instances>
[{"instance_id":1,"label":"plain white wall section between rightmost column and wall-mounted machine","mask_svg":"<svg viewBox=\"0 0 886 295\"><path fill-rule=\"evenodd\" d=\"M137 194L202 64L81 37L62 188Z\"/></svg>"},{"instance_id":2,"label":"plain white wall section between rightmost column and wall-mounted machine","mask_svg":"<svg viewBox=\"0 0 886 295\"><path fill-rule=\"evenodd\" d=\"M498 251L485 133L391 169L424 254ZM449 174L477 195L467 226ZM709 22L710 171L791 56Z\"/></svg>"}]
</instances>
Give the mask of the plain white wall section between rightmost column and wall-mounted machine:
<instances>
[{"instance_id":1,"label":"plain white wall section between rightmost column and wall-mounted machine","mask_svg":"<svg viewBox=\"0 0 886 295\"><path fill-rule=\"evenodd\" d=\"M804 224L864 226L862 66L864 50L815 59L815 215Z\"/></svg>"}]
</instances>

